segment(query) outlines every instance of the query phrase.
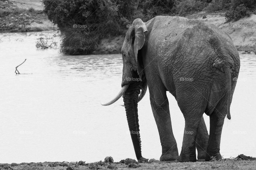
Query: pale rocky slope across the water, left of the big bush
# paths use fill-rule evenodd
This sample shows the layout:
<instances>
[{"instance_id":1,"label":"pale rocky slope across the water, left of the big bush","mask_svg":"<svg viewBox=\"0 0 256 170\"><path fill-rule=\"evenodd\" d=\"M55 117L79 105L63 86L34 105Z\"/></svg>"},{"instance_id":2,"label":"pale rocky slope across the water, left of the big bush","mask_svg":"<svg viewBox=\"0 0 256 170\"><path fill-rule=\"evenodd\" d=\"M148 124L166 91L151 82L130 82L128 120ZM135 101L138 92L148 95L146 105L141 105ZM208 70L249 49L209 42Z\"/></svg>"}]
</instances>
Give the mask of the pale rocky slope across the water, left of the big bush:
<instances>
[{"instance_id":1,"label":"pale rocky slope across the water, left of the big bush","mask_svg":"<svg viewBox=\"0 0 256 170\"><path fill-rule=\"evenodd\" d=\"M0 33L57 30L40 4L39 0L0 0Z\"/></svg>"}]
</instances>

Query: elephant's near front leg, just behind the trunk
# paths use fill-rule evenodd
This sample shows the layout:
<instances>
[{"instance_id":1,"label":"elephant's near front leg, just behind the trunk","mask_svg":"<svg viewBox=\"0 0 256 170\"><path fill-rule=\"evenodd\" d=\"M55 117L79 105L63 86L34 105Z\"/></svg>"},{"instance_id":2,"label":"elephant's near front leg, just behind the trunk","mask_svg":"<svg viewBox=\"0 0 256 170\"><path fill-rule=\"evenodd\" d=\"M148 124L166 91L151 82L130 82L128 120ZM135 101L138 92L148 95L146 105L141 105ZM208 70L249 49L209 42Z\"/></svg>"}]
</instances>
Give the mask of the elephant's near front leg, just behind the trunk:
<instances>
[{"instance_id":1,"label":"elephant's near front leg, just behind the trunk","mask_svg":"<svg viewBox=\"0 0 256 170\"><path fill-rule=\"evenodd\" d=\"M162 145L162 155L160 161L171 161L179 158L177 143L173 135L169 102L164 86L151 87L150 104L157 124L160 142Z\"/></svg>"}]
</instances>

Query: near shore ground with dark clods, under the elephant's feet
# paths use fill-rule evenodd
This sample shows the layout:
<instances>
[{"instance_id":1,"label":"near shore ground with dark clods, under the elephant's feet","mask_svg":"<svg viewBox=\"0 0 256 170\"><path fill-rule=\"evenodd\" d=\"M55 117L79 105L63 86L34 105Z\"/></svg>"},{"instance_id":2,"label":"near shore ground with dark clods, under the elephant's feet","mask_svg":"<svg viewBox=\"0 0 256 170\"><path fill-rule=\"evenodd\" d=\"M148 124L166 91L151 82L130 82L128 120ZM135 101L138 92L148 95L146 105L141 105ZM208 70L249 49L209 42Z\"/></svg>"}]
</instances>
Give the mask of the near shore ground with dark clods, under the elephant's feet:
<instances>
[{"instance_id":1,"label":"near shore ground with dark clods, under the elephant's feet","mask_svg":"<svg viewBox=\"0 0 256 170\"><path fill-rule=\"evenodd\" d=\"M111 157L106 157L111 158ZM233 159L223 159L221 161L209 161L209 162L159 162L158 160L151 159L148 163L137 163L132 159L121 160L120 162L114 162L112 159L106 159L95 163L79 162L43 162L43 163L12 163L12 164L0 164L0 169L39 169L39 170L84 170L84 169L225 169L225 170L243 170L243 169L256 169L256 160L252 157L246 157L245 155L239 155ZM245 158L245 159L244 159Z\"/></svg>"}]
</instances>

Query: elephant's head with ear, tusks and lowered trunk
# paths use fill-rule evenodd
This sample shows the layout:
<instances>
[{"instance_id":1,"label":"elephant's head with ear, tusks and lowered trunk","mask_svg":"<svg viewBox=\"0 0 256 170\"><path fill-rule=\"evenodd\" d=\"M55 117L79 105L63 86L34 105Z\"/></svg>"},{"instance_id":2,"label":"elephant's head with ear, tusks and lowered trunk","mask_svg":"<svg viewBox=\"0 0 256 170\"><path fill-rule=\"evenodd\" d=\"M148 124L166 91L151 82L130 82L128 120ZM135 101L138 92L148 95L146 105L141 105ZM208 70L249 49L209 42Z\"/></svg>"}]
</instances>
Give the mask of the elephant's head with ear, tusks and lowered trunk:
<instances>
[{"instance_id":1,"label":"elephant's head with ear, tusks and lowered trunk","mask_svg":"<svg viewBox=\"0 0 256 170\"><path fill-rule=\"evenodd\" d=\"M126 33L121 51L123 58L122 89L113 100L102 104L113 104L123 96L131 139L138 160L142 159L138 123L138 101L143 98L147 90L147 81L143 72L140 52L145 43L144 32L147 32L145 23L141 19L135 19ZM142 91L140 92L140 90Z\"/></svg>"}]
</instances>

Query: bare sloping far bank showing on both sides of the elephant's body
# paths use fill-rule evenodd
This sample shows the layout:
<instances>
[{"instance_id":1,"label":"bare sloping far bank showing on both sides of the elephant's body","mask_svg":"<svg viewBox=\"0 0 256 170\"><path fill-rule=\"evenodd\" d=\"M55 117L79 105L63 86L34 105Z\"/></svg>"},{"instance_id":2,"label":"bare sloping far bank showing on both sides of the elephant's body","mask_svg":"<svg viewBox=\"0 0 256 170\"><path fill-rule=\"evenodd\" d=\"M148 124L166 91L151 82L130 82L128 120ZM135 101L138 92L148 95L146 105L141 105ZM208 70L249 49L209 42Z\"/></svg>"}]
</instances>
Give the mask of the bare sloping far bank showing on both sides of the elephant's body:
<instances>
[{"instance_id":1,"label":"bare sloping far bank showing on both sides of the elephant's body","mask_svg":"<svg viewBox=\"0 0 256 170\"><path fill-rule=\"evenodd\" d=\"M256 52L256 15L252 14L250 17L245 17L235 22L226 22L224 15L224 12L210 14L197 12L186 16L186 18L191 20L197 19L216 25L229 34L238 51ZM124 39L125 35L105 38L101 40L101 43L93 54L121 53Z\"/></svg>"}]
</instances>

